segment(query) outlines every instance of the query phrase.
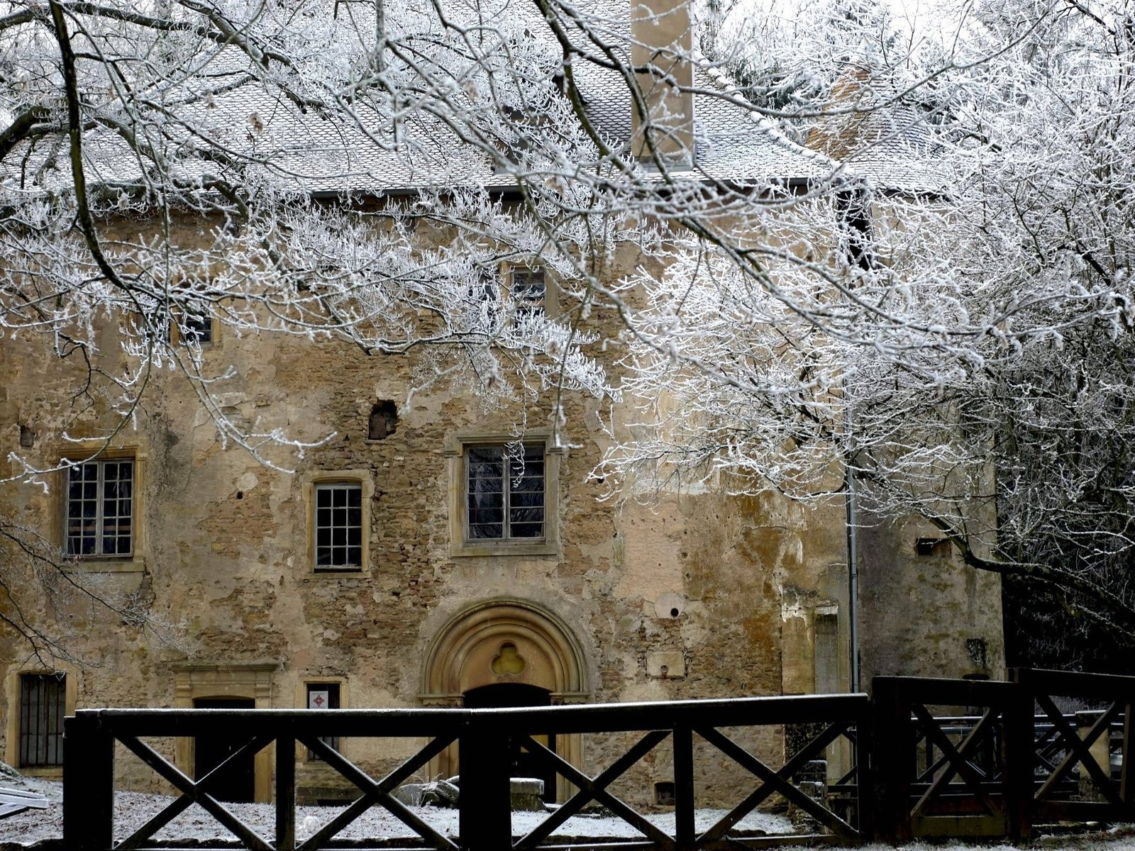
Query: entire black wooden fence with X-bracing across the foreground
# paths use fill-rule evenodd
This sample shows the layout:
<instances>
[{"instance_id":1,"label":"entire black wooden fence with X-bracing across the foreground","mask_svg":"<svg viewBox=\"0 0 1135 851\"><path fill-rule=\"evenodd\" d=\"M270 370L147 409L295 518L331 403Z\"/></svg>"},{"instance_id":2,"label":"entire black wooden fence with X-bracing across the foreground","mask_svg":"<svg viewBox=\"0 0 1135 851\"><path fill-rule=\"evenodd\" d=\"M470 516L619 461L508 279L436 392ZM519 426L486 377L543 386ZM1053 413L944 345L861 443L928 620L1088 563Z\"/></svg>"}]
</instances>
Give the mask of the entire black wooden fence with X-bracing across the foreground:
<instances>
[{"instance_id":1,"label":"entire black wooden fence with X-bracing across the foreground","mask_svg":"<svg viewBox=\"0 0 1135 851\"><path fill-rule=\"evenodd\" d=\"M375 806L417 834L414 848L442 851L549 849L554 832L590 802L603 804L642 835L632 843L586 843L597 849L693 851L783 842L785 837L730 835L734 825L774 794L807 814L825 840L847 844L872 836L1023 839L1032 834L1034 824L1046 820L1135 820L1135 769L1127 759L1135 677L1024 669L1015 671L1010 682L876 677L873 692L871 700L865 694L831 694L524 709L81 710L66 719L64 845L68 851L154 848L158 831L194 803L253 851L326 848ZM1087 711L1063 713L1057 698L1073 698ZM961 713L943 711L959 707ZM812 735L793 753L785 753L779 767L726 732L771 726L779 733L785 724L801 725ZM640 735L592 776L533 738L548 733ZM245 742L229 761L275 744L276 826L270 839L242 821L211 792L226 764L194 781L142 741L209 735ZM420 748L393 772L375 778L327 744L330 736L414 739ZM809 762L823 759L841 738L850 742L855 767L821 798L805 794L794 778ZM706 749L693 747L697 739L745 769L753 784L741 790L740 803L700 833L695 829L695 759ZM611 790L667 740L674 764L672 832L661 829ZM116 742L180 792L161 814L118 842L114 826ZM295 832L296 743L359 789L352 803L302 842ZM462 766L455 837L437 832L392 797L400 784L453 743ZM499 756L516 747L577 790L523 836L513 835L508 762ZM1107 765L1100 765L1101 753ZM376 841L375 846L380 844Z\"/></svg>"}]
</instances>

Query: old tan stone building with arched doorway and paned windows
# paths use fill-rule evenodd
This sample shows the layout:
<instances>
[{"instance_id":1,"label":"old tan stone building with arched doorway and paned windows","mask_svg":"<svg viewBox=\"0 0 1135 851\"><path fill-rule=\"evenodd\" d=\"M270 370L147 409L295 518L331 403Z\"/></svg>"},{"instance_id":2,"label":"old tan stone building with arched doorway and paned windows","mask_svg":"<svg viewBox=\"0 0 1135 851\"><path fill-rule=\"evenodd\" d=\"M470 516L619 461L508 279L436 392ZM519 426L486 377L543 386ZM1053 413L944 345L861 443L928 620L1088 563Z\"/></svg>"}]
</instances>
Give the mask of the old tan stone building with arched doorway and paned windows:
<instances>
[{"instance_id":1,"label":"old tan stone building with arched doorway and paned windows","mask_svg":"<svg viewBox=\"0 0 1135 851\"><path fill-rule=\"evenodd\" d=\"M686 71L695 90L722 84L706 68ZM598 76L588 84L596 120L630 133L625 93ZM703 140L697 165L714 174L806 183L832 171L833 160L747 119L740 126L751 129L739 137L735 110L721 100L687 95L684 104ZM376 178L373 193L381 192ZM153 222L104 227L133 236ZM203 224L183 217L174 227L192 245ZM639 262L621 246L607 275L614 280ZM538 261L503 266L497 284L553 318L568 306ZM600 337L614 339L604 325L612 322L596 318ZM564 395L566 427L553 431L546 395L486 408L449 386L411 394L413 351L368 355L334 340L237 334L209 319L194 332L203 361L234 376L215 415L310 441L294 472L226 445L176 371L157 372L108 439L110 412L98 403L78 410L81 369L24 338L0 340L3 456L16 452L44 469L74 462L47 477L47 488L3 485L5 512L60 547L66 571L96 578L140 613L77 604L52 613L47 603L33 610L35 591L25 589L32 616L72 625L66 642L84 664L36 658L19 635L0 632L0 735L6 761L20 770L61 770L59 718L81 707L457 707L847 691L854 617L865 686L876 673L1002 674L997 580L964 567L949 545L927 544L933 532L917 521L863 532L852 601L842 505L733 497L724 487L650 504L600 500L606 490L592 471L611 440L609 412L582 394ZM100 334L112 351L115 322ZM614 365L617 346L592 349ZM145 618L168 624L168 640L154 640ZM218 759L207 743L173 747L191 775ZM589 770L608 760L602 741L564 736L554 747ZM362 740L343 748L376 768L401 756ZM258 755L233 795L269 799L272 765L269 750ZM430 766L432 775L459 770L455 752ZM629 793L655 800L670 770L664 753L647 760L630 775L638 785ZM119 773L133 787L161 787L138 762L120 760ZM343 794L344 781L314 758L303 758L297 775L302 800ZM709 797L728 783L704 781Z\"/></svg>"}]
</instances>

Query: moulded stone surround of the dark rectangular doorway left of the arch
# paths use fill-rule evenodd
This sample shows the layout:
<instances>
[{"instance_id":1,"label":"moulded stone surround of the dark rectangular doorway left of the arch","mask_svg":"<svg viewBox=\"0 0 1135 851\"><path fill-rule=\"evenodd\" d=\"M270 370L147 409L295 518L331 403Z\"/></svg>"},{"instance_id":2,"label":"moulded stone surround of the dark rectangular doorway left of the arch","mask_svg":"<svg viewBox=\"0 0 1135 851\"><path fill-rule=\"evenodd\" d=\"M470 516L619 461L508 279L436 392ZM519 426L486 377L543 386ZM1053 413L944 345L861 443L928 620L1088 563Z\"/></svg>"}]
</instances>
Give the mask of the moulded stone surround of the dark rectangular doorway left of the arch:
<instances>
[{"instance_id":1,"label":"moulded stone surround of the dark rectangular doorway left of the arch","mask_svg":"<svg viewBox=\"0 0 1135 851\"><path fill-rule=\"evenodd\" d=\"M174 674L174 708L192 709L197 698L243 698L254 700L257 709L272 706L275 662L266 663L176 663ZM253 790L257 803L272 800L272 762L276 745L264 748L253 757ZM174 740L174 764L193 776L193 739Z\"/></svg>"}]
</instances>

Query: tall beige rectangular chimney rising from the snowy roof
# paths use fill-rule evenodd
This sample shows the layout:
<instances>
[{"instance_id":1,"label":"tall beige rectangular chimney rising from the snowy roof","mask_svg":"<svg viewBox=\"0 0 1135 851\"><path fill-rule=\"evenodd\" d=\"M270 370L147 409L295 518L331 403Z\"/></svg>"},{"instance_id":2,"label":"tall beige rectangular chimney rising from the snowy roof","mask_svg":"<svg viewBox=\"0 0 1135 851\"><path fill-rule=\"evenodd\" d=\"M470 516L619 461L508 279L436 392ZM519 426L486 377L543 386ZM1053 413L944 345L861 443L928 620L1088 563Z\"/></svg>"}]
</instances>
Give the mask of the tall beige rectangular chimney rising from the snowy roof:
<instances>
[{"instance_id":1,"label":"tall beige rectangular chimney rising from the snowy roof","mask_svg":"<svg viewBox=\"0 0 1135 851\"><path fill-rule=\"evenodd\" d=\"M667 168L693 163L693 27L690 0L631 0L631 61L646 101L631 102L631 150ZM653 145L653 146L651 146Z\"/></svg>"}]
</instances>

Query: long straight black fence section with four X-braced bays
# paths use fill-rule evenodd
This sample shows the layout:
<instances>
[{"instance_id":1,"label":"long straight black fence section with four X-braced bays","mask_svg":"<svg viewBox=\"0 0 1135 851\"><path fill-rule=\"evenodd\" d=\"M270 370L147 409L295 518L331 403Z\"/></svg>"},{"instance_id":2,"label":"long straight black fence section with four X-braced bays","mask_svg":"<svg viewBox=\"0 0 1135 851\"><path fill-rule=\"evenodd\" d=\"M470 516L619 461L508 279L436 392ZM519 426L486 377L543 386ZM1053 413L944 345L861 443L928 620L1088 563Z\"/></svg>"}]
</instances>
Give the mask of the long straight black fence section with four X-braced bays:
<instances>
[{"instance_id":1,"label":"long straight black fence section with four X-braced bays","mask_svg":"<svg viewBox=\"0 0 1135 851\"><path fill-rule=\"evenodd\" d=\"M595 802L642 834L640 848L738 848L730 831L773 794L806 812L831 836L856 842L869 835L869 809L851 789L851 806L834 811L823 800L805 794L793 777L841 738L866 759L869 738L866 694L739 698L650 703L536 707L523 709L87 709L65 722L64 844L68 851L136 851L154 848L154 835L191 806L199 804L234 840L252 851L314 851L327 848L352 821L371 807L381 807L409 826L419 846L439 851L502 851L547 846L555 831L583 807ZM815 725L794 753L780 766L768 765L738 743L725 728ZM538 735L582 733L641 734L636 744L594 776L536 740ZM192 780L143 738L224 735L244 742L205 776ZM732 734L735 736L735 733ZM403 738L424 742L411 758L384 777L375 778L328 744L335 738ZM700 739L748 775L754 786L716 824L698 833L695 827L695 739ZM673 748L674 829L665 832L611 791L630 767L663 742ZM129 836L115 842L114 777L116 743L125 747L179 793L160 814ZM348 780L359 797L319 827L310 837L296 839L295 755L301 744L329 768ZM459 834L443 835L412 808L393 797L406 780L422 772L429 760L456 743L461 762ZM276 827L271 837L258 833L213 793L216 780L229 764L275 745ZM538 762L577 790L527 835L514 836L511 820L510 764L503 753L524 748ZM844 793L844 803L848 795ZM743 841L741 841L743 842ZM756 842L756 841L754 841ZM170 843L162 842L168 848ZM602 842L589 842L598 848ZM629 848L625 840L609 843ZM757 844L760 844L757 842ZM352 846L358 846L352 843Z\"/></svg>"}]
</instances>

